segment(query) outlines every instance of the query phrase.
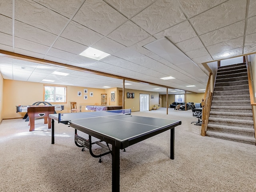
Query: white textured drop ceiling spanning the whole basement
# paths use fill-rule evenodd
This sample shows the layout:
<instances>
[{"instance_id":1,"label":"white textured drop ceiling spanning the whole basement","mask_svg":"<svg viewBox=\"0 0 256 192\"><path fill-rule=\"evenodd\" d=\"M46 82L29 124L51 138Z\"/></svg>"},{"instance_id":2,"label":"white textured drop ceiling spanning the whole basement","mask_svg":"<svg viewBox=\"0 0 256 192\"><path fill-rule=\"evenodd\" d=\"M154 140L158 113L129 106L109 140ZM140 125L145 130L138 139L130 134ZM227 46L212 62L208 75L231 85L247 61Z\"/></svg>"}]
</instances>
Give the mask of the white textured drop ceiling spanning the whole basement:
<instances>
[{"instance_id":1,"label":"white textured drop ceiling spanning the whole basement","mask_svg":"<svg viewBox=\"0 0 256 192\"><path fill-rule=\"evenodd\" d=\"M202 63L256 52L255 9L255 0L4 0L0 72L4 79L85 88L122 88L127 78L129 89L200 93L208 80ZM88 47L110 56L80 56ZM175 79L160 79L167 76Z\"/></svg>"}]
</instances>

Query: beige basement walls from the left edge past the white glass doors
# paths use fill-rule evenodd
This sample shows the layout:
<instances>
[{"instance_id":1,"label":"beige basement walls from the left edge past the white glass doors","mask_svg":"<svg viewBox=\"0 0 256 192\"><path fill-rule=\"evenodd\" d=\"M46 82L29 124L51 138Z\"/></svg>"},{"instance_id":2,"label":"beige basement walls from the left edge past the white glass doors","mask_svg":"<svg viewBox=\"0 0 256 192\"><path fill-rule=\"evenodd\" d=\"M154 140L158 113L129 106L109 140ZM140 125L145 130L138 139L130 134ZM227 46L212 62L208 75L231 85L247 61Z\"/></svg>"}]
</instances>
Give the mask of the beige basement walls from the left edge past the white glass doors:
<instances>
[{"instance_id":1,"label":"beige basement walls from the left edge past the white glass doors","mask_svg":"<svg viewBox=\"0 0 256 192\"><path fill-rule=\"evenodd\" d=\"M24 82L15 80L6 80L0 78L0 119L11 119L11 118L23 118L26 113L16 113L17 105L32 105L35 102L44 100L44 85L43 83L36 82ZM54 85L54 84L50 84ZM64 105L63 113L71 112L70 102L77 102L77 108L80 105L101 105L101 94L107 94L107 105L117 106L118 105L118 90L120 88L110 89L88 89L88 99L84 100L84 89L86 87L67 86L67 102L58 103ZM122 90L122 89L121 89ZM82 96L78 96L78 91L82 92ZM115 92L115 101L111 101L111 92ZM93 96L90 96L90 92L93 92ZM135 98L128 99L125 95L125 108L131 108L132 111L140 110L140 93L150 95L150 110L155 104L159 102L159 94L156 92L146 92L140 90L126 89L127 92L134 92ZM151 95L154 95L154 99L151 99ZM4 101L4 102L2 102ZM51 103L54 104L54 103ZM85 111L85 106L82 106L82 112ZM58 112L58 111L57 111Z\"/></svg>"}]
</instances>

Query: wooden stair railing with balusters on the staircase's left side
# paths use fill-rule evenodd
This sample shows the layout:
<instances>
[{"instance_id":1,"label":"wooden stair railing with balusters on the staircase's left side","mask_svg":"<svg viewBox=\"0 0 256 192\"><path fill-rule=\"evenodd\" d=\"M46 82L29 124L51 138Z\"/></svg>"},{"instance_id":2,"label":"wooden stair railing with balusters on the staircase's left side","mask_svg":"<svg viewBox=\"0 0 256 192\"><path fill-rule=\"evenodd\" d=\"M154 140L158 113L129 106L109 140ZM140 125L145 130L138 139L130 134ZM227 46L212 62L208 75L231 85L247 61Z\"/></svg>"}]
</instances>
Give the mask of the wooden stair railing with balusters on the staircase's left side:
<instances>
[{"instance_id":1,"label":"wooden stair railing with balusters on the staircase's left side","mask_svg":"<svg viewBox=\"0 0 256 192\"><path fill-rule=\"evenodd\" d=\"M206 136L208 120L210 116L210 108L212 105L212 90L211 90L211 82L212 82L212 72L209 75L208 82L206 85L206 90L204 93L204 98L202 99L202 127L201 127L201 136Z\"/></svg>"}]
</instances>

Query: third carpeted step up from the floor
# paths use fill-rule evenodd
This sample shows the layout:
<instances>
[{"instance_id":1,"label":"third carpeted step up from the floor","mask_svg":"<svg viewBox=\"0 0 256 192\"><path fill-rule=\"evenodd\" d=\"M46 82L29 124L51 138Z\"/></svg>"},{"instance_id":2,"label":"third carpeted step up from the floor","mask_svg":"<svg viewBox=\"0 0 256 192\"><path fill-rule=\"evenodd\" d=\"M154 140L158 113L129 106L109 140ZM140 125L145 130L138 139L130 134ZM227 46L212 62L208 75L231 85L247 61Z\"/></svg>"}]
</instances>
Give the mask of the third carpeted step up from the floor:
<instances>
[{"instance_id":1,"label":"third carpeted step up from the floor","mask_svg":"<svg viewBox=\"0 0 256 192\"><path fill-rule=\"evenodd\" d=\"M213 118L209 117L210 124L217 125L226 125L226 126L238 126L238 127L247 127L253 128L254 122L252 120L242 120L242 119L222 119L222 118Z\"/></svg>"}]
</instances>

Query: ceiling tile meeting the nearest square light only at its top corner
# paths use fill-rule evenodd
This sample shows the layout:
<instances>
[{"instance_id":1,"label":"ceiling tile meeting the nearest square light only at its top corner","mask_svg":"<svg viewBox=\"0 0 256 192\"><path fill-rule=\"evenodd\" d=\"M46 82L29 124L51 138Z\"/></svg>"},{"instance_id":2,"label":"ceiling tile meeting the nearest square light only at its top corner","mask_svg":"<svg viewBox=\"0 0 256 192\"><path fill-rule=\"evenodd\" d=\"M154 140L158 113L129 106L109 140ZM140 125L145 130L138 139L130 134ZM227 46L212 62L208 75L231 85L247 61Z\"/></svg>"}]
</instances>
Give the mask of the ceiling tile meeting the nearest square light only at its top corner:
<instances>
[{"instance_id":1,"label":"ceiling tile meeting the nearest square light only at its top corner","mask_svg":"<svg viewBox=\"0 0 256 192\"><path fill-rule=\"evenodd\" d=\"M104 37L74 21L68 24L61 36L86 46L91 46Z\"/></svg>"}]
</instances>

